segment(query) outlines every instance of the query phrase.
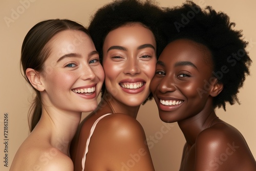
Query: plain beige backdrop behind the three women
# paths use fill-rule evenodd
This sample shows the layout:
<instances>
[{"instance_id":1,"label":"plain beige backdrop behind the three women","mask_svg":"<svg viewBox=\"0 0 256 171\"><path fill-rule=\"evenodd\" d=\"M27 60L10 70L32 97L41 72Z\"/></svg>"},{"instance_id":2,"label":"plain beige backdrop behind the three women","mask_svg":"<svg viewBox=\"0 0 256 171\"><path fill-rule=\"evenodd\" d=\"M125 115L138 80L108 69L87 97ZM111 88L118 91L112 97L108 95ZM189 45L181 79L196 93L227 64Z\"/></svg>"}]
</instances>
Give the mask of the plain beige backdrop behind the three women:
<instances>
[{"instance_id":1,"label":"plain beige backdrop behind the three women","mask_svg":"<svg viewBox=\"0 0 256 171\"><path fill-rule=\"evenodd\" d=\"M12 159L29 134L27 112L33 97L32 90L19 72L22 41L28 30L37 22L50 18L68 18L88 26L89 17L97 8L111 0L1 0L0 2L0 169L9 170ZM161 6L181 5L184 0L158 0ZM237 29L244 30L250 41L248 51L251 59L256 55L256 9L255 0L195 0L200 6L211 5L226 12ZM224 3L225 2L225 3ZM5 19L12 20L6 23ZM237 127L244 135L256 157L256 67L253 63L251 76L247 77L240 91L241 105L227 106L227 111L217 110L220 118ZM4 113L9 115L8 167L4 166ZM87 114L83 114L83 117ZM184 138L176 123L164 124L158 117L154 101L141 107L138 120L144 127L156 170L178 170Z\"/></svg>"}]
</instances>

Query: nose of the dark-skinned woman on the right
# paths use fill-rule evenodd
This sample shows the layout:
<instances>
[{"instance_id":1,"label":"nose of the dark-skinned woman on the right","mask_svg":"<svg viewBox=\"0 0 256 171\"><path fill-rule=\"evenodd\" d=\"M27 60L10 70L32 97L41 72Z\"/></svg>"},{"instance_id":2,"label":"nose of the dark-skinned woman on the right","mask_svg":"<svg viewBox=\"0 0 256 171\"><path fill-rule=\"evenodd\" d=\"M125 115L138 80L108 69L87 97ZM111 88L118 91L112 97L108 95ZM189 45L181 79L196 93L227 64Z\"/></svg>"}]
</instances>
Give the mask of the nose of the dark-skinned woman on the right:
<instances>
[{"instance_id":1,"label":"nose of the dark-skinned woman on the right","mask_svg":"<svg viewBox=\"0 0 256 171\"><path fill-rule=\"evenodd\" d=\"M158 89L162 93L176 91L174 79L172 77L164 76L159 82Z\"/></svg>"}]
</instances>

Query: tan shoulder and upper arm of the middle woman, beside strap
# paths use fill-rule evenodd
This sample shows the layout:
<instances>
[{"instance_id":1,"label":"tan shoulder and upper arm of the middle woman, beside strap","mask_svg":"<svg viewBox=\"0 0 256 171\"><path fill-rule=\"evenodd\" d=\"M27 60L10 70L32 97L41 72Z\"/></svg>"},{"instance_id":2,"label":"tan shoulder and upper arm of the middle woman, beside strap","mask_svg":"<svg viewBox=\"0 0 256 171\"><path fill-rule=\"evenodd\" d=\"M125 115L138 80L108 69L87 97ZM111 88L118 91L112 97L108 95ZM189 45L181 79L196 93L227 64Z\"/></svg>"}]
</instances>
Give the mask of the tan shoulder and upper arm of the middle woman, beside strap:
<instances>
[{"instance_id":1,"label":"tan shoulder and upper arm of the middle woman, beside strap","mask_svg":"<svg viewBox=\"0 0 256 171\"><path fill-rule=\"evenodd\" d=\"M86 168L154 170L145 140L144 130L136 119L124 114L106 116L99 121L91 138Z\"/></svg>"}]
</instances>

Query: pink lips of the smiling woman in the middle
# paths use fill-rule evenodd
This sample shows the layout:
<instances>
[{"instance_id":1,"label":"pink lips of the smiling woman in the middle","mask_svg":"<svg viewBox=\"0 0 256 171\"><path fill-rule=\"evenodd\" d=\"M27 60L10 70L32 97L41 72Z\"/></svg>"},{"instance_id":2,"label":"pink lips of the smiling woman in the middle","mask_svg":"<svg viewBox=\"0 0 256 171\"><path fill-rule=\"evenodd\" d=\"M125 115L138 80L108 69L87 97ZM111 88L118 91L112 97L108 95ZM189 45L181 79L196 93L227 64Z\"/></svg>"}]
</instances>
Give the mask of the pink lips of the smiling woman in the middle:
<instances>
[{"instance_id":1,"label":"pink lips of the smiling woman in the middle","mask_svg":"<svg viewBox=\"0 0 256 171\"><path fill-rule=\"evenodd\" d=\"M136 89L127 89L127 88L122 87L122 84L134 84L136 82L138 82L138 84L142 83L143 85ZM119 82L120 88L124 92L129 93L129 94L137 94L137 93L142 92L145 89L145 84L146 84L146 81L143 79L140 79L140 78L127 78L127 79L123 79Z\"/></svg>"}]
</instances>

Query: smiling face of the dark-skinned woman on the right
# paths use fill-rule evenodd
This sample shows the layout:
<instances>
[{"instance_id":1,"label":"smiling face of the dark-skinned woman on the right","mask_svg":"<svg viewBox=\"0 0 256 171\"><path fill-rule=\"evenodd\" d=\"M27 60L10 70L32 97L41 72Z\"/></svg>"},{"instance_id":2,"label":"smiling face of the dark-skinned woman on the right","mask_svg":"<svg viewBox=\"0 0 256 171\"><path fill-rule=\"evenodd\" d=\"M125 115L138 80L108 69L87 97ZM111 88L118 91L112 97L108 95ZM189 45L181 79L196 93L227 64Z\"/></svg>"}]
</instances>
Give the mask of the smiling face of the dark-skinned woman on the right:
<instances>
[{"instance_id":1,"label":"smiling face of the dark-skinned woman on the right","mask_svg":"<svg viewBox=\"0 0 256 171\"><path fill-rule=\"evenodd\" d=\"M204 110L216 80L211 62L209 50L191 40L175 40L165 47L150 87L162 121L181 121Z\"/></svg>"}]
</instances>

